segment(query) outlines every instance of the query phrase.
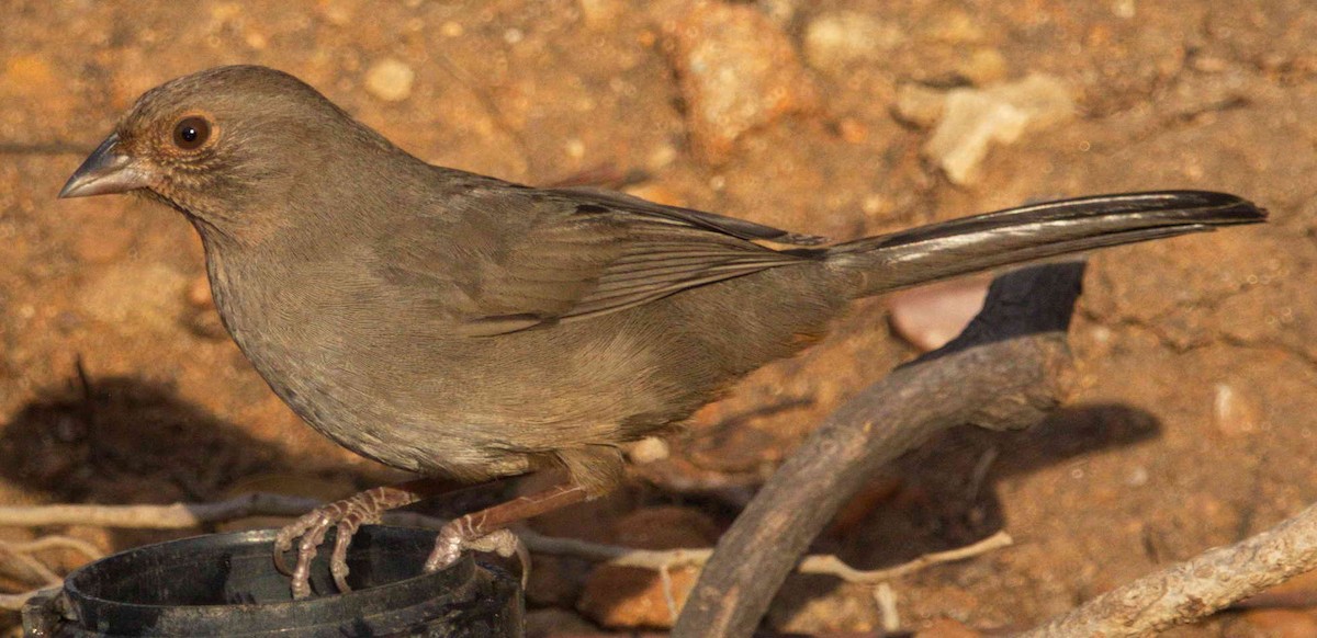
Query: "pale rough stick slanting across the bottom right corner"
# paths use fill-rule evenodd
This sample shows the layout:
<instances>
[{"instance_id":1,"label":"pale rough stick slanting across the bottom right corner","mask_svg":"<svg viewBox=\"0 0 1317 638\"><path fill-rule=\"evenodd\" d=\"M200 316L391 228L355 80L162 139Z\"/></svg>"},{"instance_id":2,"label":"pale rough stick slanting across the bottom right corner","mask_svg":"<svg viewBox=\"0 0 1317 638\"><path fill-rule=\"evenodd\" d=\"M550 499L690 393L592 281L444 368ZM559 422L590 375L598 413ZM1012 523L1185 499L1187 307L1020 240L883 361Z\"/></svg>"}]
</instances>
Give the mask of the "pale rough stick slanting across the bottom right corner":
<instances>
[{"instance_id":1,"label":"pale rough stick slanting across the bottom right corner","mask_svg":"<svg viewBox=\"0 0 1317 638\"><path fill-rule=\"evenodd\" d=\"M1267 531L1118 587L1022 635L1150 635L1314 568L1317 505L1310 505Z\"/></svg>"}]
</instances>

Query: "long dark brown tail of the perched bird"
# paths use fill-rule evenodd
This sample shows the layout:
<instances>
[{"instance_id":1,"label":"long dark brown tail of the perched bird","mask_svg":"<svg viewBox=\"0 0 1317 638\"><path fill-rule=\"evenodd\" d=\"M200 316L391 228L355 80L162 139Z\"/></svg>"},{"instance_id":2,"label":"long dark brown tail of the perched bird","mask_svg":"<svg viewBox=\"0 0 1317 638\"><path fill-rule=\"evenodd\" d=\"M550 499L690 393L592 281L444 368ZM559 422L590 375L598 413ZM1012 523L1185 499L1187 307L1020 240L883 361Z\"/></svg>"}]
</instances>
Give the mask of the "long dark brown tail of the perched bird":
<instances>
[{"instance_id":1,"label":"long dark brown tail of the perched bird","mask_svg":"<svg viewBox=\"0 0 1317 638\"><path fill-rule=\"evenodd\" d=\"M1100 195L856 239L830 249L827 262L861 272L855 296L863 297L998 266L1266 218L1264 209L1226 193Z\"/></svg>"}]
</instances>

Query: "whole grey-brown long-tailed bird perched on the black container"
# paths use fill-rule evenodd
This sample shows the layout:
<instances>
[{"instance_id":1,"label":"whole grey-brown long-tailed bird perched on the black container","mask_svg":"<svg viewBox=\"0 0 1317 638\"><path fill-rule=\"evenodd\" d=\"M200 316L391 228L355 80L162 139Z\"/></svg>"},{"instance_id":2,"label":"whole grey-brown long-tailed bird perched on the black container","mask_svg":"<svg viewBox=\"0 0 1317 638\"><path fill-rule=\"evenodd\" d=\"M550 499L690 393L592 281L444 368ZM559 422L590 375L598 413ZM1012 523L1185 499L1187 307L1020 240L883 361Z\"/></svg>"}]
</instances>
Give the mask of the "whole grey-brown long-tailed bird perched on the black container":
<instances>
[{"instance_id":1,"label":"whole grey-brown long-tailed bird perched on the black container","mask_svg":"<svg viewBox=\"0 0 1317 638\"><path fill-rule=\"evenodd\" d=\"M506 545L493 533L512 521L610 491L622 443L797 353L857 297L1266 217L1231 195L1126 193L822 247L615 192L431 166L255 66L146 92L59 195L122 192L192 222L225 328L316 430L427 476L566 470L561 487L449 524L427 570ZM283 529L281 566L300 538L295 596L309 593L328 529L346 589L352 533L423 487L362 492Z\"/></svg>"}]
</instances>

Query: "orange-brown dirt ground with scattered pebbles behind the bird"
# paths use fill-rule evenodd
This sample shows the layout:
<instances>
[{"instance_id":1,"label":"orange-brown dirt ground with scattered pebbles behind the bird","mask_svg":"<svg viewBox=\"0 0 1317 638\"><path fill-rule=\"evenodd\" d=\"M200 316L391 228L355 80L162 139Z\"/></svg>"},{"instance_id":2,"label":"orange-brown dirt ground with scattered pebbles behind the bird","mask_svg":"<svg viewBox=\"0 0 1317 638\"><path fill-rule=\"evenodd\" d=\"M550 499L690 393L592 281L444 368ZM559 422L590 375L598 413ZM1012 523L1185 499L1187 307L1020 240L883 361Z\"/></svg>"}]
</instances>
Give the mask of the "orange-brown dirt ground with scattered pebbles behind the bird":
<instances>
[{"instance_id":1,"label":"orange-brown dirt ground with scattered pebbles behind the bird","mask_svg":"<svg viewBox=\"0 0 1317 638\"><path fill-rule=\"evenodd\" d=\"M637 195L835 238L1126 189L1258 201L1264 228L1094 255L1069 405L1025 433L938 437L817 543L880 567L1006 530L1013 547L892 583L901 627L1029 626L1317 500L1313 33L1308 0L8 0L0 504L333 497L398 479L320 438L253 372L213 314L188 224L130 197L54 197L142 91L209 66L290 71L435 163L525 183L639 170ZM707 41L732 42L716 63L766 59L789 84L701 84ZM1064 86L1073 114L994 146L963 184L922 153L932 124L896 107L911 87L1030 74ZM706 118L726 100L745 104ZM859 304L701 412L624 492L540 529L710 543L824 414L917 354L885 308ZM0 528L40 533L107 551L178 535ZM541 558L532 629L661 629L653 591L652 574ZM871 587L792 577L765 629L880 621ZM1231 612L1169 634L1317 635L1317 614Z\"/></svg>"}]
</instances>

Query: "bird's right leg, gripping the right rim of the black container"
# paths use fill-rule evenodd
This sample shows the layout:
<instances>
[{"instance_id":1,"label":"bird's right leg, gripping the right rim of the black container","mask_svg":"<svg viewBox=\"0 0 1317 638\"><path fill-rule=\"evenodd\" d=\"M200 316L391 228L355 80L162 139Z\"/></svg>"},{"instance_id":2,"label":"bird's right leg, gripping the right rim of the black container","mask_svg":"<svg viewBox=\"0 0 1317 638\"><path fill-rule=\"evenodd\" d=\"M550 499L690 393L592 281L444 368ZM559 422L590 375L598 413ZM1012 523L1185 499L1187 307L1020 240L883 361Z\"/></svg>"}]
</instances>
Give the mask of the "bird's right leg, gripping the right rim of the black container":
<instances>
[{"instance_id":1,"label":"bird's right leg, gripping the right rim of the black container","mask_svg":"<svg viewBox=\"0 0 1317 638\"><path fill-rule=\"evenodd\" d=\"M583 487L570 483L453 518L439 530L435 551L425 559L425 572L448 567L457 560L464 549L474 549L495 551L503 556L515 554L522 559L524 581L525 575L529 574L525 549L506 528L514 522L581 503L589 496Z\"/></svg>"}]
</instances>

